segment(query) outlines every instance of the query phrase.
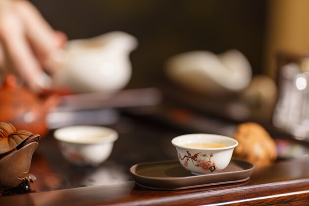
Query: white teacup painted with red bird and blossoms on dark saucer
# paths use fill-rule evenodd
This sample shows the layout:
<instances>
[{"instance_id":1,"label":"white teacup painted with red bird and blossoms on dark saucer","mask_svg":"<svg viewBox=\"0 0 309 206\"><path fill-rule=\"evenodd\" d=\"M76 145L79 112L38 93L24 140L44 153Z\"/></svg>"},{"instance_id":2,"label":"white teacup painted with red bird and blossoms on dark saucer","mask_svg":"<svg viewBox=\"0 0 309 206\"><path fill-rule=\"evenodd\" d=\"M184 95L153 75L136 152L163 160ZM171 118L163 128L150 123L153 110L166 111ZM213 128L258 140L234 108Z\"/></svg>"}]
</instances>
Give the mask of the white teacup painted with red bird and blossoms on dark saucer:
<instances>
[{"instance_id":1,"label":"white teacup painted with red bird and blossoms on dark saucer","mask_svg":"<svg viewBox=\"0 0 309 206\"><path fill-rule=\"evenodd\" d=\"M238 142L216 134L185 134L172 139L181 165L193 174L210 174L225 169Z\"/></svg>"}]
</instances>

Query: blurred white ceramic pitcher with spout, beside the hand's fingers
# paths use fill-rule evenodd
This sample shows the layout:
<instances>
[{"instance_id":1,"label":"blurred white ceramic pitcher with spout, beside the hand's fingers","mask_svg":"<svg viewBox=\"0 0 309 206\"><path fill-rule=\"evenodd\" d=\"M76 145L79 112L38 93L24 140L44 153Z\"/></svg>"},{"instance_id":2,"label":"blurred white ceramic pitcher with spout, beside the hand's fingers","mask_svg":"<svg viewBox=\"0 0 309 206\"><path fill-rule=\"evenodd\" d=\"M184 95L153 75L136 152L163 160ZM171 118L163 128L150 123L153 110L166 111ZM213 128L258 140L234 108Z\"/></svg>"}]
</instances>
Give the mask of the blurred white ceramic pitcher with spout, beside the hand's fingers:
<instances>
[{"instance_id":1,"label":"blurred white ceramic pitcher with spout, beside the hand's fingers","mask_svg":"<svg viewBox=\"0 0 309 206\"><path fill-rule=\"evenodd\" d=\"M53 87L74 92L115 92L131 78L129 54L137 39L124 32L110 32L67 43L52 75Z\"/></svg>"}]
</instances>

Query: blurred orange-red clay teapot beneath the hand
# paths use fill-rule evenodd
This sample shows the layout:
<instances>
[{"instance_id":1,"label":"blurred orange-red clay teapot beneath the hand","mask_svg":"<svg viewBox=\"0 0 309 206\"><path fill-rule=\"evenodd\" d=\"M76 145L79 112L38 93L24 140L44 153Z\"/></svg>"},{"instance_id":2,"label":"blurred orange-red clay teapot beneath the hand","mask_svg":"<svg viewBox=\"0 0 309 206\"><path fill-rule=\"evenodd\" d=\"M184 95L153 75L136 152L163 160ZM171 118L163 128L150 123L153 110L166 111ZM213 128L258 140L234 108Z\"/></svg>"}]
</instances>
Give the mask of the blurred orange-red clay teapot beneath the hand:
<instances>
[{"instance_id":1,"label":"blurred orange-red clay teapot beneath the hand","mask_svg":"<svg viewBox=\"0 0 309 206\"><path fill-rule=\"evenodd\" d=\"M45 117L57 103L57 96L39 98L26 87L18 86L14 75L6 75L0 88L0 122L11 123L17 130L27 129L44 136L48 132Z\"/></svg>"}]
</instances>

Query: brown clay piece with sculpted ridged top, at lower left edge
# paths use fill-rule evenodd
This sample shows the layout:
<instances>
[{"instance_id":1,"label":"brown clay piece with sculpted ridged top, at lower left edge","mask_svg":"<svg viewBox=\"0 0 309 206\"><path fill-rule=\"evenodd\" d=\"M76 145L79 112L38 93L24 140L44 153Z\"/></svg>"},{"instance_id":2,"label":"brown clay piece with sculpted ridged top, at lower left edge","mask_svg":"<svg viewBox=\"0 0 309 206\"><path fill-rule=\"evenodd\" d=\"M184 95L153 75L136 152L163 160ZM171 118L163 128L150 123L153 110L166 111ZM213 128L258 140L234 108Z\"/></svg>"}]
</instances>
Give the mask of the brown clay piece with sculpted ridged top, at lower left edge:
<instances>
[{"instance_id":1,"label":"brown clay piece with sculpted ridged top, at lower left edge","mask_svg":"<svg viewBox=\"0 0 309 206\"><path fill-rule=\"evenodd\" d=\"M39 138L39 134L0 123L0 191L16 187L27 177Z\"/></svg>"}]
</instances>

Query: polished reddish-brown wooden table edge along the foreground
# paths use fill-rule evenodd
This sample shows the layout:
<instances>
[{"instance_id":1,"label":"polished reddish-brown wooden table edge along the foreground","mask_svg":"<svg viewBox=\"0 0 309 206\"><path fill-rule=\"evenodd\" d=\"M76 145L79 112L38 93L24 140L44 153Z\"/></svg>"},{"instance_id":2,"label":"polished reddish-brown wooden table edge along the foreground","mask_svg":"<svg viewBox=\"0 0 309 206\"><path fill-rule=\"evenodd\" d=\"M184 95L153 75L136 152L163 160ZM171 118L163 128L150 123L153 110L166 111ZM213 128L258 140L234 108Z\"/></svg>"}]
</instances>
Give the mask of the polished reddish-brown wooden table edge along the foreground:
<instances>
[{"instance_id":1,"label":"polished reddish-brown wooden table edge along the foreground","mask_svg":"<svg viewBox=\"0 0 309 206\"><path fill-rule=\"evenodd\" d=\"M300 205L309 204L309 160L281 162L255 170L244 183L179 191L155 191L135 182L0 197L3 206L90 205Z\"/></svg>"}]
</instances>

